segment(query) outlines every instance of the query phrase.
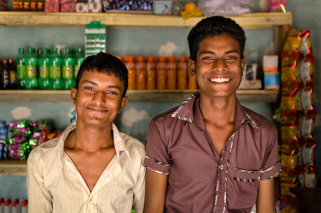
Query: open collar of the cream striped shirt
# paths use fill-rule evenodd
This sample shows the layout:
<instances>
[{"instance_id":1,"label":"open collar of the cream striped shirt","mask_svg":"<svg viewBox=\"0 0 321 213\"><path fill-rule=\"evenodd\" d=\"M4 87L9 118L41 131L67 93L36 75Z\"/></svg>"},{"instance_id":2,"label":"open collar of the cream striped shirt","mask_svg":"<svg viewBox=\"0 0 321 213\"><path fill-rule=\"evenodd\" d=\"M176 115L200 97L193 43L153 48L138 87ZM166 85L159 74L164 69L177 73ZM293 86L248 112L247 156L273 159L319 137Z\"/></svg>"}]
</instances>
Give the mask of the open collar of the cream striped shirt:
<instances>
[{"instance_id":1,"label":"open collar of the cream striped shirt","mask_svg":"<svg viewBox=\"0 0 321 213\"><path fill-rule=\"evenodd\" d=\"M66 140L67 136L69 135L69 133L76 129L76 123L77 123L77 120L75 122L73 122L72 124L70 124L65 129L65 131L62 133L61 137L59 138L59 141L58 141L58 144L57 144L59 159L62 159L63 156L64 156L65 140ZM129 160L131 161L129 152L126 149L126 144L123 141L123 139L121 138L121 134L118 131L118 129L117 129L117 127L116 127L116 125L114 123L112 123L112 132L113 132L113 138L114 138L114 147L115 147L115 151L116 151L116 155L117 155L118 161L119 161L119 154L121 152L123 152L123 151L126 153L126 155L128 156Z\"/></svg>"}]
</instances>

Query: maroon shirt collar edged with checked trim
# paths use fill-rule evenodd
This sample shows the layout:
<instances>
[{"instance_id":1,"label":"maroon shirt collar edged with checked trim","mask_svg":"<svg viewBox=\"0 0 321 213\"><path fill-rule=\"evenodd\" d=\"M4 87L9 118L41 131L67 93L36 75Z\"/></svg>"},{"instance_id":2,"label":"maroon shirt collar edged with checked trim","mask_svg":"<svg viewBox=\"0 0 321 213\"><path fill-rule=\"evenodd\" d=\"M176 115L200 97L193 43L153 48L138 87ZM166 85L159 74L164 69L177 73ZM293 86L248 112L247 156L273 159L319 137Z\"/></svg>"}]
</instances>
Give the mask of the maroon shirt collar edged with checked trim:
<instances>
[{"instance_id":1,"label":"maroon shirt collar edged with checked trim","mask_svg":"<svg viewBox=\"0 0 321 213\"><path fill-rule=\"evenodd\" d=\"M178 109L172 114L173 118L184 120L195 124L195 110L193 107L194 103L198 102L200 97L200 90L196 91L190 97L188 97ZM249 123L253 128L258 129L259 127L254 123L253 119L248 113L246 113L244 107L241 105L240 101L236 98L236 111L235 111L235 128L239 127L243 123Z\"/></svg>"}]
</instances>

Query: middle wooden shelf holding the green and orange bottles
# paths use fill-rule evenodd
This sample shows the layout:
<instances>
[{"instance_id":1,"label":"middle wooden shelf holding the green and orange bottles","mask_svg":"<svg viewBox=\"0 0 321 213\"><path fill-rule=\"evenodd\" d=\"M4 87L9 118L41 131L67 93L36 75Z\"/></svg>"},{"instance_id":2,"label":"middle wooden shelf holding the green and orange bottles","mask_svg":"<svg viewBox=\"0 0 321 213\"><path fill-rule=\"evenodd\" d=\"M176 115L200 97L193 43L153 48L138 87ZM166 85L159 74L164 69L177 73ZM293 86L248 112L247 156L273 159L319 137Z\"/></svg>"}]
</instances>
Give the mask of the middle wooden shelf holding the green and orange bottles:
<instances>
[{"instance_id":1,"label":"middle wooden shelf holding the green and orange bottles","mask_svg":"<svg viewBox=\"0 0 321 213\"><path fill-rule=\"evenodd\" d=\"M128 90L129 102L183 102L195 90ZM279 90L238 89L241 102L277 102ZM71 102L69 90L0 90L0 102Z\"/></svg>"}]
</instances>

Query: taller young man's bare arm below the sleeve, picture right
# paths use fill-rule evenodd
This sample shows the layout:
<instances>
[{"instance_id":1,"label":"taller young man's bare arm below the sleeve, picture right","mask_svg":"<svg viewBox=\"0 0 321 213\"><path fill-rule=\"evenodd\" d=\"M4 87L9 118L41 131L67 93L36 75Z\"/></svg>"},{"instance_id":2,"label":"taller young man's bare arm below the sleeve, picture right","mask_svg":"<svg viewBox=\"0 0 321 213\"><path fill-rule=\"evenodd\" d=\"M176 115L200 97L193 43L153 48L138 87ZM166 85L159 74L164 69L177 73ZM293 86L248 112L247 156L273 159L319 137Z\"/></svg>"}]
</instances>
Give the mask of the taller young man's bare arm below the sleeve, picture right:
<instances>
[{"instance_id":1,"label":"taller young man's bare arm below the sleeve, picture right","mask_svg":"<svg viewBox=\"0 0 321 213\"><path fill-rule=\"evenodd\" d=\"M275 213L274 178L260 181L257 189L256 212Z\"/></svg>"}]
</instances>

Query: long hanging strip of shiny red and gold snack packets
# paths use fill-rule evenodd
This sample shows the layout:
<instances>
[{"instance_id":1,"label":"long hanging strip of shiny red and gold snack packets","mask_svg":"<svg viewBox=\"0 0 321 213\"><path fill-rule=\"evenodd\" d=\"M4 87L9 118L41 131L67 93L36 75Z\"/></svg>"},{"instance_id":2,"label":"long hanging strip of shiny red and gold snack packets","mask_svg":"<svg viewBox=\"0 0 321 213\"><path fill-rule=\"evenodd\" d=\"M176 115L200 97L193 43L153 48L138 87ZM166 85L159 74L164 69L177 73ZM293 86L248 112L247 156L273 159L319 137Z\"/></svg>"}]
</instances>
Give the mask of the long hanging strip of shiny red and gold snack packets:
<instances>
[{"instance_id":1,"label":"long hanging strip of shiny red and gold snack packets","mask_svg":"<svg viewBox=\"0 0 321 213\"><path fill-rule=\"evenodd\" d=\"M280 181L284 210L296 207L290 187L316 186L314 57L309 34L307 30L291 29L282 52L281 102L274 118L281 126Z\"/></svg>"}]
</instances>

